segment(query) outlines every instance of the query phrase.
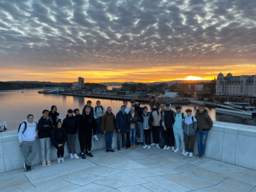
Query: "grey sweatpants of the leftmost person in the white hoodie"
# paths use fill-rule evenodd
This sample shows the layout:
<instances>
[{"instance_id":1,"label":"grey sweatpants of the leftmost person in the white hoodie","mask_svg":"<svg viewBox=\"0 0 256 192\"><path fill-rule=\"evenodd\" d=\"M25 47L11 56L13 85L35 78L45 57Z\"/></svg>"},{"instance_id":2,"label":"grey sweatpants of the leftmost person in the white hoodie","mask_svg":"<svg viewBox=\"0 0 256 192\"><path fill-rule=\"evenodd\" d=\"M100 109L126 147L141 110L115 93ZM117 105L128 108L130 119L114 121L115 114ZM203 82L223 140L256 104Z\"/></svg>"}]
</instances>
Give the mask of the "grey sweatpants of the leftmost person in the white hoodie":
<instances>
[{"instance_id":1,"label":"grey sweatpants of the leftmost person in the white hoodie","mask_svg":"<svg viewBox=\"0 0 256 192\"><path fill-rule=\"evenodd\" d=\"M36 147L36 141L22 141L22 154L24 156L25 163L31 166L31 163L38 152L38 147Z\"/></svg>"}]
</instances>

